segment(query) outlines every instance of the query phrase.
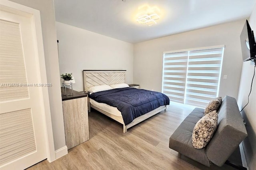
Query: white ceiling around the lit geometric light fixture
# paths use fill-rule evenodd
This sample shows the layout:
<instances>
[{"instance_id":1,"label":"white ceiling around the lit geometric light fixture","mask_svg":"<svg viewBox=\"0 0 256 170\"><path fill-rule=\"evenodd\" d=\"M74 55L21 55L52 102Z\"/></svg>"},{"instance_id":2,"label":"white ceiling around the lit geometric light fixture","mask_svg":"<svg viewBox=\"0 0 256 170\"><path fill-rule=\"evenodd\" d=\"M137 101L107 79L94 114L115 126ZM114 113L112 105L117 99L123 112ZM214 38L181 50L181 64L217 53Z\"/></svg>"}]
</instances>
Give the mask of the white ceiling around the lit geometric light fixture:
<instances>
[{"instance_id":1,"label":"white ceiling around the lit geometric light fixture","mask_svg":"<svg viewBox=\"0 0 256 170\"><path fill-rule=\"evenodd\" d=\"M125 1L125 0L124 0ZM248 18L256 0L54 0L56 21L130 43ZM136 22L152 8L157 24Z\"/></svg>"}]
</instances>

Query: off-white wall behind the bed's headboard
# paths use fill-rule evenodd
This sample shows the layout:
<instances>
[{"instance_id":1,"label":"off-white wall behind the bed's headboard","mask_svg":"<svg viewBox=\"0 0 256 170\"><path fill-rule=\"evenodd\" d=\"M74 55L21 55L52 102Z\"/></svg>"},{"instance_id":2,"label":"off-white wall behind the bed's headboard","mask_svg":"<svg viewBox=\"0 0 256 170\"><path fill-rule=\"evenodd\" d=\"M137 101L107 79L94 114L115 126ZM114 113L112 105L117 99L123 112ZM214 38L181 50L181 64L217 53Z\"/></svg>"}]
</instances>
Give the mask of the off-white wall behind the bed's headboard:
<instances>
[{"instance_id":1,"label":"off-white wall behind the bed's headboard","mask_svg":"<svg viewBox=\"0 0 256 170\"><path fill-rule=\"evenodd\" d=\"M127 70L133 83L133 44L56 22L60 74L73 73L73 89L84 90L83 70Z\"/></svg>"}]
</instances>

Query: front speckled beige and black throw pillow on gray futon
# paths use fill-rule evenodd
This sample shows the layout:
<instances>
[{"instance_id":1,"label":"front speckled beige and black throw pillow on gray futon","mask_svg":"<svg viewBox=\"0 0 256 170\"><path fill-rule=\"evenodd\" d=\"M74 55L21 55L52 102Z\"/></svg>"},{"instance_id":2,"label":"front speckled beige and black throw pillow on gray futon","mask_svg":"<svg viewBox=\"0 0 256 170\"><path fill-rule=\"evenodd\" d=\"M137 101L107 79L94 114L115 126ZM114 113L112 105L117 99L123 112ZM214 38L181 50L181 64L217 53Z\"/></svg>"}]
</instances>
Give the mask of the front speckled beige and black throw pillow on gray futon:
<instances>
[{"instance_id":1,"label":"front speckled beige and black throw pillow on gray futon","mask_svg":"<svg viewBox=\"0 0 256 170\"><path fill-rule=\"evenodd\" d=\"M216 110L206 114L196 123L192 134L192 145L195 149L204 148L212 139L218 126Z\"/></svg>"}]
</instances>

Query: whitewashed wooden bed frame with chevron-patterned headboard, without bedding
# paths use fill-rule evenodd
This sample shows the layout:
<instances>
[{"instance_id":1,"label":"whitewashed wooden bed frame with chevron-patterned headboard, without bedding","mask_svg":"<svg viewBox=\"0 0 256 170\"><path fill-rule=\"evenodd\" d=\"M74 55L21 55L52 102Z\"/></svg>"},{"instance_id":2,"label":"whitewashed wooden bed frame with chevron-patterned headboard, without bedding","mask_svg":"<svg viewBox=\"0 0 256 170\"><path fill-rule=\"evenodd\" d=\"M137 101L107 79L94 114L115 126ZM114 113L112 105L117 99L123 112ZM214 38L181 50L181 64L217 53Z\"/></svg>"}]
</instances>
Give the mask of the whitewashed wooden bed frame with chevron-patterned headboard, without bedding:
<instances>
[{"instance_id":1,"label":"whitewashed wooden bed frame with chevron-patterned headboard, without bedding","mask_svg":"<svg viewBox=\"0 0 256 170\"><path fill-rule=\"evenodd\" d=\"M84 70L83 73L84 73L84 90L85 91L87 91L90 87L93 87L93 86L99 86L104 84L112 85L112 84L119 84L119 83L126 82L125 81L126 70ZM88 98L88 100L90 101L90 98ZM159 108L156 108L151 112L148 112L138 118L135 118L130 124L125 125L122 116L115 116L111 113L101 110L100 108L97 108L92 104L90 104L90 107L94 108L95 110L98 110L99 112L105 114L106 116L123 124L124 133L127 132L128 128L142 122L143 120L146 120L147 118L150 118L151 116L154 116L155 114L163 110L166 110L166 106L160 106Z\"/></svg>"}]
</instances>

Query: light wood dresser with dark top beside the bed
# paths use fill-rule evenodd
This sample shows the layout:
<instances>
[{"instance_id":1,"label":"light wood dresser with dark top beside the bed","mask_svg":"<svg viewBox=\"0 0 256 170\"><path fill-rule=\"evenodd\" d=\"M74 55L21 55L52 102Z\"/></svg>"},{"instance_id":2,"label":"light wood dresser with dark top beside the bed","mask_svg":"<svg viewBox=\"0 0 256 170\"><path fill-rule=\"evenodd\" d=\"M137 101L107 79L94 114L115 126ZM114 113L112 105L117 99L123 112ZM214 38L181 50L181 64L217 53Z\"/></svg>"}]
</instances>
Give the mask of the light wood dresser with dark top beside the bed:
<instances>
[{"instance_id":1,"label":"light wood dresser with dark top beside the bed","mask_svg":"<svg viewBox=\"0 0 256 170\"><path fill-rule=\"evenodd\" d=\"M73 90L72 96L64 96L64 88L61 92L66 146L70 149L89 140L87 95Z\"/></svg>"}]
</instances>

